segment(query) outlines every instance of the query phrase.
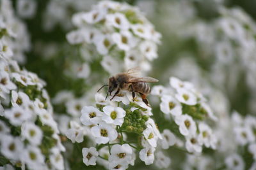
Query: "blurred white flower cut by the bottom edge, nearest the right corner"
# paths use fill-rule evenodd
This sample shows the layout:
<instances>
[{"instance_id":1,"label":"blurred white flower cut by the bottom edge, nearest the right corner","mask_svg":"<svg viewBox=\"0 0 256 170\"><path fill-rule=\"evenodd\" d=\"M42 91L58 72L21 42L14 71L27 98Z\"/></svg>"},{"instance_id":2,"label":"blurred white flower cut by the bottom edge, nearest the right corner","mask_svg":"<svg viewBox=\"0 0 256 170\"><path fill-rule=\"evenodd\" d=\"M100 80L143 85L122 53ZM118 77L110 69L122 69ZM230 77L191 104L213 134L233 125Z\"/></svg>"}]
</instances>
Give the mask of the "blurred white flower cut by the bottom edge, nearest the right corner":
<instances>
[{"instance_id":1,"label":"blurred white flower cut by the bottom edge, nearest the right corner","mask_svg":"<svg viewBox=\"0 0 256 170\"><path fill-rule=\"evenodd\" d=\"M232 170L241 170L244 169L244 161L240 155L236 153L229 155L225 159L225 164L228 169Z\"/></svg>"}]
</instances>

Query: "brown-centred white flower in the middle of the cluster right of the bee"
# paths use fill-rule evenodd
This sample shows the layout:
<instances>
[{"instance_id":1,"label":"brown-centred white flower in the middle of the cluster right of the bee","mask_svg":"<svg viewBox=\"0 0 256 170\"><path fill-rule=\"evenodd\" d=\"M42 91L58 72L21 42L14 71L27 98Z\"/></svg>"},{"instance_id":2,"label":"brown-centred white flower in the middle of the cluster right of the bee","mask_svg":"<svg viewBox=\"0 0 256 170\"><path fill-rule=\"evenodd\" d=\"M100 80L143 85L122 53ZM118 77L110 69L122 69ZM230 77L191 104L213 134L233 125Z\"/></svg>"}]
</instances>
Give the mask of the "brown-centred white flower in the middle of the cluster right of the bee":
<instances>
[{"instance_id":1,"label":"brown-centred white flower in the middle of the cluster right of the bee","mask_svg":"<svg viewBox=\"0 0 256 170\"><path fill-rule=\"evenodd\" d=\"M175 122L179 125L179 131L184 136L196 134L196 123L189 115L180 115L179 117L175 117Z\"/></svg>"}]
</instances>

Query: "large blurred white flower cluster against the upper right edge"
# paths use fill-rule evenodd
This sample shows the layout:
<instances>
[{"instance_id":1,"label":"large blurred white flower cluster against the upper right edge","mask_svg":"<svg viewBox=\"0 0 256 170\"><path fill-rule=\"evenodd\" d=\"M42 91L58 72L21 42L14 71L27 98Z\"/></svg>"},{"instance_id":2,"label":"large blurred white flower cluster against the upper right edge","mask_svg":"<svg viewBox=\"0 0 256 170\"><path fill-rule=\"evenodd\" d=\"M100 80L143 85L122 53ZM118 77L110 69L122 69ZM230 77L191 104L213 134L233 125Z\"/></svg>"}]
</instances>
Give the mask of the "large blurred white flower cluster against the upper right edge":
<instances>
[{"instance_id":1,"label":"large blurred white flower cluster against the upper right edge","mask_svg":"<svg viewBox=\"0 0 256 170\"><path fill-rule=\"evenodd\" d=\"M255 34L256 23L241 8L219 10L220 17L211 22L197 19L190 36L200 46L201 57L211 60L212 82L231 92L239 82L239 73L246 74L246 83L255 94ZM214 62L212 62L214 59Z\"/></svg>"}]
</instances>

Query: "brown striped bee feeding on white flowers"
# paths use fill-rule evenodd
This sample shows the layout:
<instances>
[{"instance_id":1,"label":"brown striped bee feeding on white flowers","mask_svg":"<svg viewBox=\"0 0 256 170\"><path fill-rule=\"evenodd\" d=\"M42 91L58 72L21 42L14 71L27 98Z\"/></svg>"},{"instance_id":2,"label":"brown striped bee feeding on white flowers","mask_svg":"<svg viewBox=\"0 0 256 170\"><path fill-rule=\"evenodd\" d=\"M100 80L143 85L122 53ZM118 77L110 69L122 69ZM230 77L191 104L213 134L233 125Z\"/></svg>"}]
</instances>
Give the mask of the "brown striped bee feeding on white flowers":
<instances>
[{"instance_id":1,"label":"brown striped bee feeding on white flowers","mask_svg":"<svg viewBox=\"0 0 256 170\"><path fill-rule=\"evenodd\" d=\"M140 77L140 69L138 67L132 68L127 70L124 73L116 74L115 76L111 76L108 80L107 85L103 85L100 87L98 92L105 86L109 86L108 93L106 96L106 99L109 96L111 96L111 93L116 90L114 96L110 99L114 99L115 96L118 95L120 90L127 90L129 92L132 92L132 98L134 101L135 93L140 94L142 101L149 106L147 96L150 94L151 89L147 83L154 83L157 82L156 78L152 77Z\"/></svg>"}]
</instances>

